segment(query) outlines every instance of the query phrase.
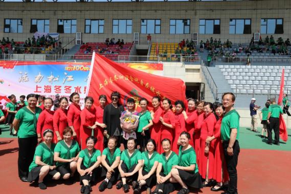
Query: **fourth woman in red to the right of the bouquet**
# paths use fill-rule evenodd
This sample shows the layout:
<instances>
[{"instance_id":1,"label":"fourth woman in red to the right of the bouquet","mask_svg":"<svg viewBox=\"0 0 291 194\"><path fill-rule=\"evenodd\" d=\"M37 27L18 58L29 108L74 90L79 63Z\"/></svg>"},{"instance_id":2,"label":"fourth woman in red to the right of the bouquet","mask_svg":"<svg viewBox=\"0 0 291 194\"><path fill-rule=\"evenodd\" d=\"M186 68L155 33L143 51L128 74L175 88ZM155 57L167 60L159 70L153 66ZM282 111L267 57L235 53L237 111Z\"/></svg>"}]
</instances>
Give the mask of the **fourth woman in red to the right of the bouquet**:
<instances>
[{"instance_id":1,"label":"fourth woman in red to the right of the bouquet","mask_svg":"<svg viewBox=\"0 0 291 194\"><path fill-rule=\"evenodd\" d=\"M198 117L197 110L196 110L196 104L197 104L197 101L194 100L193 98L190 98L188 100L187 111L182 112L184 119L185 119L185 122L186 122L186 130L191 136L189 143L192 147L194 147L194 121ZM198 154L198 153L196 153L196 154Z\"/></svg>"}]
</instances>

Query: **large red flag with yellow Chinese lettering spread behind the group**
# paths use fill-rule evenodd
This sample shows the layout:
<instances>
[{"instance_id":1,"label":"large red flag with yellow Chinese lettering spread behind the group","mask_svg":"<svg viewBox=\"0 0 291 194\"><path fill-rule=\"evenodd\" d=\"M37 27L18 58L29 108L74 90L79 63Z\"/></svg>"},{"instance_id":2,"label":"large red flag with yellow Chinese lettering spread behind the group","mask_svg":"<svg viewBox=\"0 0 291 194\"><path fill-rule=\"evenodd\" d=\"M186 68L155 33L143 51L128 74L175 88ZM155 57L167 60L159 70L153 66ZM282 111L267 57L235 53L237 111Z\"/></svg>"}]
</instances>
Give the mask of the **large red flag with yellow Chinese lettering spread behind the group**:
<instances>
[{"instance_id":1,"label":"large red flag with yellow Chinese lettering spread behind the group","mask_svg":"<svg viewBox=\"0 0 291 194\"><path fill-rule=\"evenodd\" d=\"M121 94L121 103L126 104L127 98L136 100L136 109L139 99L146 98L151 102L153 96L175 100L186 100L185 83L181 79L168 78L131 69L99 54L93 54L88 81L88 96L94 97L95 105L101 94L110 98L113 91ZM109 100L110 101L110 100ZM151 106L151 103L148 104Z\"/></svg>"}]
</instances>

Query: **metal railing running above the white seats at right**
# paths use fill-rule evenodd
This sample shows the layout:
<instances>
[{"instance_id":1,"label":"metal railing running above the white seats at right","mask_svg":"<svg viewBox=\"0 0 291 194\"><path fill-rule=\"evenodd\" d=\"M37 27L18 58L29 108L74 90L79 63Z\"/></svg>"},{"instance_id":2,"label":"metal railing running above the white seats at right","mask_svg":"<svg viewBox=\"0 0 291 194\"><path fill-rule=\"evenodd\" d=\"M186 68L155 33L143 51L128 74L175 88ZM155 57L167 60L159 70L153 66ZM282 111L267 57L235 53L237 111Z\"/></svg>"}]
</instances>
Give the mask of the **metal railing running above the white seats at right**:
<instances>
[{"instance_id":1,"label":"metal railing running above the white seats at right","mask_svg":"<svg viewBox=\"0 0 291 194\"><path fill-rule=\"evenodd\" d=\"M248 57L235 56L235 57L214 57L216 64L219 63L237 63L237 64L247 64ZM250 56L249 61L251 65L253 63L258 63L260 65L291 65L290 57L271 57L271 56Z\"/></svg>"}]
</instances>

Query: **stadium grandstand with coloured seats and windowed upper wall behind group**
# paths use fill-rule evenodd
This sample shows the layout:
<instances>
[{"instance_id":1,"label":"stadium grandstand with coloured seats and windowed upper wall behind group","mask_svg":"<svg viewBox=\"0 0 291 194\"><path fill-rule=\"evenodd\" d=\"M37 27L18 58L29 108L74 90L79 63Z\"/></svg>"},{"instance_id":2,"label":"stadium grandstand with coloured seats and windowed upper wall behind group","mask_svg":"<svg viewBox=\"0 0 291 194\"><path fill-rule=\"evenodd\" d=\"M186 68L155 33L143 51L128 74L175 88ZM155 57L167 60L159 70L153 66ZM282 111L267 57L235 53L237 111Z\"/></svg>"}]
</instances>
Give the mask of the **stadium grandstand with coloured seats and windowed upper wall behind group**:
<instances>
[{"instance_id":1,"label":"stadium grandstand with coloured seats and windowed upper wall behind group","mask_svg":"<svg viewBox=\"0 0 291 194\"><path fill-rule=\"evenodd\" d=\"M290 1L1 3L0 60L162 62L187 97L263 105L291 93ZM250 66L248 66L250 65Z\"/></svg>"}]
</instances>

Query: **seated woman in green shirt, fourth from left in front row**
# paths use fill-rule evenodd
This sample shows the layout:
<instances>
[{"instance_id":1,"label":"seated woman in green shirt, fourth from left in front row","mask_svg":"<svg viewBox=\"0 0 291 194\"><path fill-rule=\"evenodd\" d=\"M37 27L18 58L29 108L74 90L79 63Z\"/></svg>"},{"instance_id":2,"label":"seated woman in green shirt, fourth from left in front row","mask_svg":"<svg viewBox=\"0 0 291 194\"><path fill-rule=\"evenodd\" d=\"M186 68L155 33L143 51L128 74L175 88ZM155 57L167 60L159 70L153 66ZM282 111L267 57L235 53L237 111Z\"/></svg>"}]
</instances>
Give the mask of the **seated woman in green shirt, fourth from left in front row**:
<instances>
[{"instance_id":1,"label":"seated woman in green shirt, fourth from left in front row","mask_svg":"<svg viewBox=\"0 0 291 194\"><path fill-rule=\"evenodd\" d=\"M101 156L102 173L101 177L105 177L104 181L99 186L99 191L102 192L105 188L111 189L116 183L119 175L118 165L120 163L121 152L117 145L117 138L110 136L107 147L103 150Z\"/></svg>"}]
</instances>

